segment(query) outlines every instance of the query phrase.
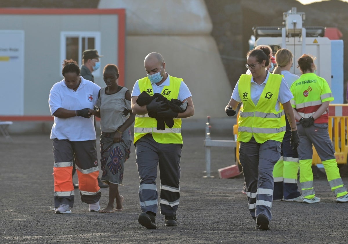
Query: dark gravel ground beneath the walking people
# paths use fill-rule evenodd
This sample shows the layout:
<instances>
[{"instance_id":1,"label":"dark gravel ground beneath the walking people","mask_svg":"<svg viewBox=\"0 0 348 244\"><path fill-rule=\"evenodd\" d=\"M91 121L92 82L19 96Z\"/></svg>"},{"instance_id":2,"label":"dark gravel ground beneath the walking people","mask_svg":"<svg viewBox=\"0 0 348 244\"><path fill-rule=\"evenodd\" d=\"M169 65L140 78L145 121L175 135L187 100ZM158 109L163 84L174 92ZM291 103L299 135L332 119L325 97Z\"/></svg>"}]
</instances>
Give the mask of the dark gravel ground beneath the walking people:
<instances>
[{"instance_id":1,"label":"dark gravel ground beneath the walking people","mask_svg":"<svg viewBox=\"0 0 348 244\"><path fill-rule=\"evenodd\" d=\"M165 227L164 216L158 213L155 230L137 222L139 176L134 147L120 186L123 212L90 213L75 190L72 214L54 214L49 135L17 135L13 140L10 144L0 138L0 243L347 243L348 203L335 202L325 178L314 182L320 203L274 202L271 229L255 230L246 196L240 193L243 177L218 177L217 169L235 161L231 148L212 148L214 177L203 178L204 136L184 133L179 226ZM102 189L101 207L108 202L108 192Z\"/></svg>"}]
</instances>

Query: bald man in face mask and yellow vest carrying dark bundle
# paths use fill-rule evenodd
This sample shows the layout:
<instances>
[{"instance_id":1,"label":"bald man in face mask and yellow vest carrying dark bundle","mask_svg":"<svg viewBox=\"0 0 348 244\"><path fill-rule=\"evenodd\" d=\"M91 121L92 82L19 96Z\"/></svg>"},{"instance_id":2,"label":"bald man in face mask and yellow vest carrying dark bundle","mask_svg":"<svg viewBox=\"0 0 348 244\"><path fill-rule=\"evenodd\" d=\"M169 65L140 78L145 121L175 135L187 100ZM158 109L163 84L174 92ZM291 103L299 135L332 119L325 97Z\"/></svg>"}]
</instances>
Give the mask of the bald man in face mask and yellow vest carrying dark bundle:
<instances>
[{"instance_id":1,"label":"bald man in face mask and yellow vest carrying dark bundle","mask_svg":"<svg viewBox=\"0 0 348 244\"><path fill-rule=\"evenodd\" d=\"M139 202L142 213L138 222L147 229L156 229L155 216L158 209L156 188L157 166L160 171L160 213L165 216L166 226L177 226L176 210L180 198L180 156L182 148L181 118L193 115L192 95L183 79L169 76L166 64L159 53L149 53L144 60L147 77L135 82L132 91L132 111L136 114L134 123L134 145L140 186ZM153 99L148 105L139 106L136 102L140 93L150 96L160 93L171 99L187 101L183 113L164 108L164 101ZM156 112L163 118L172 118L174 125L164 130L157 129L157 120L149 117Z\"/></svg>"}]
</instances>

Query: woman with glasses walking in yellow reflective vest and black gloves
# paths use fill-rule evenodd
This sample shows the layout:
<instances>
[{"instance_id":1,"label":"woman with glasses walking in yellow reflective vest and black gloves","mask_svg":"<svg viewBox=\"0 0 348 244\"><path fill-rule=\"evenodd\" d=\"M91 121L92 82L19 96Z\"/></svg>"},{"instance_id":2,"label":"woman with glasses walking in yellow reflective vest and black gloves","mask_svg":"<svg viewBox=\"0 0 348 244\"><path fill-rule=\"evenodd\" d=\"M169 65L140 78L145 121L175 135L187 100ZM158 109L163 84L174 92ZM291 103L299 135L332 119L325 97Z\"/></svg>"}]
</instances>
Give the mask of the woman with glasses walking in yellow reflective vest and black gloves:
<instances>
[{"instance_id":1,"label":"woman with glasses walking in yellow reflective vest and black gloves","mask_svg":"<svg viewBox=\"0 0 348 244\"><path fill-rule=\"evenodd\" d=\"M247 189L248 208L256 229L268 230L272 218L273 167L280 158L285 134L285 114L291 125L291 143L300 141L290 100L293 98L281 75L270 74L270 50L254 49L247 53L245 65L251 75L241 75L225 108L235 115L242 102L238 119L239 161ZM284 112L284 110L285 112Z\"/></svg>"}]
</instances>

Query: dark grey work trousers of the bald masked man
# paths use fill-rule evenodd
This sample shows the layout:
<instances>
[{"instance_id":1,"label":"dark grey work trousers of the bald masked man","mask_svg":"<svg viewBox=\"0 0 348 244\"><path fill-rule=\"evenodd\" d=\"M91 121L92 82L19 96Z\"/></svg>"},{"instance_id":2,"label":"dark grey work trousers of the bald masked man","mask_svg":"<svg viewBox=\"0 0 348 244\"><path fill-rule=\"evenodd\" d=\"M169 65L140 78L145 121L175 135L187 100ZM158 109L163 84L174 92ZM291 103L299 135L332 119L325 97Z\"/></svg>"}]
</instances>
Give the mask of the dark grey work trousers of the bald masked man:
<instances>
[{"instance_id":1,"label":"dark grey work trousers of the bald masked man","mask_svg":"<svg viewBox=\"0 0 348 244\"><path fill-rule=\"evenodd\" d=\"M157 213L157 166L160 173L160 213L175 215L180 198L180 157L182 144L161 144L151 134L135 143L136 164L140 178L139 202L142 212Z\"/></svg>"}]
</instances>

